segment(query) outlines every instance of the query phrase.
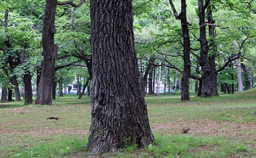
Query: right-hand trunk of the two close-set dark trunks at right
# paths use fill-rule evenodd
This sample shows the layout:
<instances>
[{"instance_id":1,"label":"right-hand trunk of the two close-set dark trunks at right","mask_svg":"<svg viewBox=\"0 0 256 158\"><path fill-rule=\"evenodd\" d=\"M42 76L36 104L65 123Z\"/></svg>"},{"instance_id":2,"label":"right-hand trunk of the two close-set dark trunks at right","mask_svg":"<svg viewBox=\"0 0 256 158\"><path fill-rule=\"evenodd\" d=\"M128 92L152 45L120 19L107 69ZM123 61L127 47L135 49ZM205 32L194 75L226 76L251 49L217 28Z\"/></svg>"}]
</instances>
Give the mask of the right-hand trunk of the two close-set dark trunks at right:
<instances>
[{"instance_id":1,"label":"right-hand trunk of the two close-set dark trunks at right","mask_svg":"<svg viewBox=\"0 0 256 158\"><path fill-rule=\"evenodd\" d=\"M213 16L212 16L212 8L211 8L210 2L209 2L209 5L207 6L207 19L208 19L208 23L210 23L210 24L215 23L215 21L213 20ZM209 36L210 37L215 36L213 25L209 25ZM212 51L212 55L210 55L208 59L209 59L209 68L210 68L210 74L209 74L210 87L211 87L211 92L212 92L213 96L219 96L218 82L217 82L217 75L218 74L216 72L216 65L215 65L216 48L217 48L217 46L215 45L214 41L211 41L210 49Z\"/></svg>"}]
</instances>

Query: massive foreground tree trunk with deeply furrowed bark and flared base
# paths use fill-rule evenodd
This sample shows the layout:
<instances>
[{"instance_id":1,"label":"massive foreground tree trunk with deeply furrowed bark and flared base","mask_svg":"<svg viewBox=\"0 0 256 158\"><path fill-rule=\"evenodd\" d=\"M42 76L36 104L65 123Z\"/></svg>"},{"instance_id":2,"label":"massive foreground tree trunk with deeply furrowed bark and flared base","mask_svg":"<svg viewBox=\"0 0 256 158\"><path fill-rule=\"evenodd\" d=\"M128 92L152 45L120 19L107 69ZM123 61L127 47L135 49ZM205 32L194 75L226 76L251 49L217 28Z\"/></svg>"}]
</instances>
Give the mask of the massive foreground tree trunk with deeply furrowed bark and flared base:
<instances>
[{"instance_id":1,"label":"massive foreground tree trunk with deeply furrowed bark and flared base","mask_svg":"<svg viewBox=\"0 0 256 158\"><path fill-rule=\"evenodd\" d=\"M153 143L134 49L132 1L91 0L92 121L94 154L126 143ZM97 101L98 100L98 101Z\"/></svg>"}]
</instances>

